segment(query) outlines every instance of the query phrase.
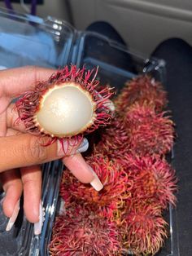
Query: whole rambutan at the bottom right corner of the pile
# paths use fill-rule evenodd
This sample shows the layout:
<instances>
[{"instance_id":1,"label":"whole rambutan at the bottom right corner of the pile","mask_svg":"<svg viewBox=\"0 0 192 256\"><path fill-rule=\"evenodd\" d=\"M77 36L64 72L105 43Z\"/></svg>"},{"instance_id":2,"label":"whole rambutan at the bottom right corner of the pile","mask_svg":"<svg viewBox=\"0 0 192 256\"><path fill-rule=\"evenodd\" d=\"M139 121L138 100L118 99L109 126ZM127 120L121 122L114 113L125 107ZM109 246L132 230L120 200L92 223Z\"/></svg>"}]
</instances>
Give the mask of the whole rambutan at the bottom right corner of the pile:
<instances>
[{"instance_id":1,"label":"whole rambutan at the bottom right corner of the pile","mask_svg":"<svg viewBox=\"0 0 192 256\"><path fill-rule=\"evenodd\" d=\"M121 227L124 247L134 255L156 254L167 238L167 225L159 205L145 205L137 201L124 214Z\"/></svg>"}]
</instances>

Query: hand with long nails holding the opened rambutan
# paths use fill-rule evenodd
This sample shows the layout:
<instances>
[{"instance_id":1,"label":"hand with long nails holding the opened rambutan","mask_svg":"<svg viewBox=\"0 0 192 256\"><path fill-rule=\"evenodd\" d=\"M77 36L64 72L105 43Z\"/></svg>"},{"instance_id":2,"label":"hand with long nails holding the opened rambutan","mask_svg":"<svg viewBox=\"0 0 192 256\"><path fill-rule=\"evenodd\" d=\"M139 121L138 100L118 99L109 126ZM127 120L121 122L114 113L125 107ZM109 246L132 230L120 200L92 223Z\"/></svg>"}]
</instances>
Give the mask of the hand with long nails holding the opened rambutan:
<instances>
[{"instance_id":1,"label":"hand with long nails holding the opened rambutan","mask_svg":"<svg viewBox=\"0 0 192 256\"><path fill-rule=\"evenodd\" d=\"M41 168L40 164L59 158L83 183L91 183L96 190L103 188L97 175L85 163L81 153L88 148L83 140L76 154L64 156L61 144L53 143L42 147L46 137L39 138L25 132L18 118L15 104L11 100L30 90L37 81L47 80L53 70L37 67L13 68L0 71L0 180L5 196L2 201L4 214L10 218L10 230L19 211L19 200L24 190L24 213L28 221L36 223L35 233L41 232ZM65 142L64 142L65 143Z\"/></svg>"}]
</instances>

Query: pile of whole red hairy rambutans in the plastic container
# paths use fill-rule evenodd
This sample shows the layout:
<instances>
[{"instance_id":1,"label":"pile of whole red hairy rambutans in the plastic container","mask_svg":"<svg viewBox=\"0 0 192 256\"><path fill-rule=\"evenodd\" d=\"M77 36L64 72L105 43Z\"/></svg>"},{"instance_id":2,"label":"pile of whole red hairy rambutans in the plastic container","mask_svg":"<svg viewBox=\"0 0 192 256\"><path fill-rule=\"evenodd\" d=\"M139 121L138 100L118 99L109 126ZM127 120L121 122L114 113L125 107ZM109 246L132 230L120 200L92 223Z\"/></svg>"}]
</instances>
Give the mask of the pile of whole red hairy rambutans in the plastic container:
<instances>
[{"instance_id":1,"label":"pile of whole red hairy rambutans in the plastic container","mask_svg":"<svg viewBox=\"0 0 192 256\"><path fill-rule=\"evenodd\" d=\"M113 102L111 124L85 154L103 190L63 171L50 255L155 255L169 235L164 210L176 204L177 179L166 160L175 137L167 93L142 75Z\"/></svg>"}]
</instances>

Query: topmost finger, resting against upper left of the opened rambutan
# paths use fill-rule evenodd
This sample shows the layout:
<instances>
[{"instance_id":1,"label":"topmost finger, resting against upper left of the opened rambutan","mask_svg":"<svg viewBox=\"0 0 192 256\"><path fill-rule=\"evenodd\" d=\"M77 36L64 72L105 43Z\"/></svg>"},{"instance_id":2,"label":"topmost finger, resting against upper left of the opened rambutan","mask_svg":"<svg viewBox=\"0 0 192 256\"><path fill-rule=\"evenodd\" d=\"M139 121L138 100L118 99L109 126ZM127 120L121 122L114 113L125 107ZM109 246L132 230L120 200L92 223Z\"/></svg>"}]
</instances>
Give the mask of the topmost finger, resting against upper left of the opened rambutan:
<instances>
[{"instance_id":1,"label":"topmost finger, resting against upper left of the opened rambutan","mask_svg":"<svg viewBox=\"0 0 192 256\"><path fill-rule=\"evenodd\" d=\"M47 80L54 69L37 66L10 68L0 71L0 90L6 97L20 95L34 88L37 82Z\"/></svg>"}]
</instances>

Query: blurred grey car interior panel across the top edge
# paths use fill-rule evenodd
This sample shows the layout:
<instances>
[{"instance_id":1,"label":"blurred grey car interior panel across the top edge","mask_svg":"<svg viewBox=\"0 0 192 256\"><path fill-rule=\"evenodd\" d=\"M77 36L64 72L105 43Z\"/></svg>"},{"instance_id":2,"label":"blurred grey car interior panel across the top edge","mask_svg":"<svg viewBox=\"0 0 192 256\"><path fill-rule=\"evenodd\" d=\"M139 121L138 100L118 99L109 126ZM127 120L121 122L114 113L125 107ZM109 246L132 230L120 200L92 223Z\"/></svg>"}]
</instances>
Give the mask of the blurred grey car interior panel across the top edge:
<instances>
[{"instance_id":1,"label":"blurred grey car interior panel across the top edge","mask_svg":"<svg viewBox=\"0 0 192 256\"><path fill-rule=\"evenodd\" d=\"M5 7L6 1L0 1ZM29 0L11 1L17 11L30 9ZM84 30L96 20L105 20L120 33L131 51L151 54L159 42L182 38L192 44L191 0L40 0L37 15L67 20Z\"/></svg>"}]
</instances>

